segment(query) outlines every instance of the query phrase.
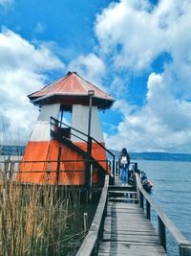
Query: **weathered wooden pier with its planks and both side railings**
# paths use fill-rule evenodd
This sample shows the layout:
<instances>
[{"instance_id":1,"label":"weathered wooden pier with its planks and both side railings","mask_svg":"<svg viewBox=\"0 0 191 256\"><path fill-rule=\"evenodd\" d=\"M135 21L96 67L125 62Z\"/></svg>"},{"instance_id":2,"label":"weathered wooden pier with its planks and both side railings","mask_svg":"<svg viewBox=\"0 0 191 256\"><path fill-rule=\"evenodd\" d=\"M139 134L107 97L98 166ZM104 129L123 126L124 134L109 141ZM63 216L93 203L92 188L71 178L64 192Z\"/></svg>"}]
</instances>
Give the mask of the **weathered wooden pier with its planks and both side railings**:
<instances>
[{"instance_id":1,"label":"weathered wooden pier with its planks and both side railings","mask_svg":"<svg viewBox=\"0 0 191 256\"><path fill-rule=\"evenodd\" d=\"M151 208L159 221L157 230ZM117 177L109 186L106 176L95 219L76 256L167 255L166 229L179 244L180 256L191 256L191 244L143 190L138 175L134 187L121 186Z\"/></svg>"}]
</instances>

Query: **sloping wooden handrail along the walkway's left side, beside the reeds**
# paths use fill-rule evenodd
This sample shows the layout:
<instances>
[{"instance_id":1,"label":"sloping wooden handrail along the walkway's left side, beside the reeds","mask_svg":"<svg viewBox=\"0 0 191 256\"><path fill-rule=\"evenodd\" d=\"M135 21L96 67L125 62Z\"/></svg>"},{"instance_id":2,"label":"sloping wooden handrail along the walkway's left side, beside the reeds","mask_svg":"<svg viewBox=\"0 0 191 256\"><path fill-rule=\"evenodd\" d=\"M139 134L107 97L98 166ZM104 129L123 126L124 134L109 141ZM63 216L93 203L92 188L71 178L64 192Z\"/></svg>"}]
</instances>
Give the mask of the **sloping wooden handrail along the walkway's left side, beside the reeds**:
<instances>
[{"instance_id":1,"label":"sloping wooden handrail along the walkway's left side, beside the reeds","mask_svg":"<svg viewBox=\"0 0 191 256\"><path fill-rule=\"evenodd\" d=\"M83 243L81 244L80 248L78 249L76 256L91 256L97 238L98 238L98 232L101 224L101 220L104 214L104 209L107 204L107 192L108 192L108 185L109 185L109 176L105 176L105 184L102 189L102 193L99 199L98 206L96 208L96 215L95 218L91 224L90 230L88 234L86 235Z\"/></svg>"}]
</instances>

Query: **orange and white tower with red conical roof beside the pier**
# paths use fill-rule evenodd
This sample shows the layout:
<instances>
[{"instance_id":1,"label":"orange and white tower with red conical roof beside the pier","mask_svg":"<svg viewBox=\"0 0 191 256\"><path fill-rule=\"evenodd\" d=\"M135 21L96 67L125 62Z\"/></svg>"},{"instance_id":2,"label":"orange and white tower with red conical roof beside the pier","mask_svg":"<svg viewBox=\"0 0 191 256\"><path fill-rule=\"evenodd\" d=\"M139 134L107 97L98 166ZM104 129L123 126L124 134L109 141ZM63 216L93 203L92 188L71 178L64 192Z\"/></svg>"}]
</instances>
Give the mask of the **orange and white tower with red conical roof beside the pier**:
<instances>
[{"instance_id":1,"label":"orange and white tower with red conical roof beside the pier","mask_svg":"<svg viewBox=\"0 0 191 256\"><path fill-rule=\"evenodd\" d=\"M93 183L110 170L98 110L114 103L75 72L28 96L39 116L16 179L38 184L83 185L93 162Z\"/></svg>"}]
</instances>

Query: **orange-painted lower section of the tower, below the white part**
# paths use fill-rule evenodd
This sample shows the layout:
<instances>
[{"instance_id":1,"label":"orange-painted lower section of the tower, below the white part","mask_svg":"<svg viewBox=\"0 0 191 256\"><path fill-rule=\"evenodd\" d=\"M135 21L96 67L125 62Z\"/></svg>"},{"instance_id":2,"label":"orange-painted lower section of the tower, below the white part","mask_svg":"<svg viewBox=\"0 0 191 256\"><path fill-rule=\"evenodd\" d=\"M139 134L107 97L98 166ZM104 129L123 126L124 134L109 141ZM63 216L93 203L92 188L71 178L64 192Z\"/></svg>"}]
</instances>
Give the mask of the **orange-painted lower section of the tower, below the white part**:
<instances>
[{"instance_id":1,"label":"orange-painted lower section of the tower, below the white part","mask_svg":"<svg viewBox=\"0 0 191 256\"><path fill-rule=\"evenodd\" d=\"M83 151L87 151L87 146L83 143L75 143L75 145ZM99 165L109 173L106 152L97 144L93 144L92 155ZM60 145L59 142L55 140L51 142L30 141L16 180L36 184L84 185L85 169L84 158L68 147ZM93 169L93 184L100 183L100 178L97 170Z\"/></svg>"}]
</instances>

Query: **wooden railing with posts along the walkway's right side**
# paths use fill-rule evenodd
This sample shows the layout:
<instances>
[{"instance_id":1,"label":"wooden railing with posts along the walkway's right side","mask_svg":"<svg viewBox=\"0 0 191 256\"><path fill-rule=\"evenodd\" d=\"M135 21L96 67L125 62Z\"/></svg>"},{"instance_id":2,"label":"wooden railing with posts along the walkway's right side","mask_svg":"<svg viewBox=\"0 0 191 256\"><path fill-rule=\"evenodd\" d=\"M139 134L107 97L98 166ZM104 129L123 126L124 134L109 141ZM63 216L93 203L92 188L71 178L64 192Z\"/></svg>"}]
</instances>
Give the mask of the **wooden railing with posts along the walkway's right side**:
<instances>
[{"instance_id":1,"label":"wooden railing with posts along the walkway's right side","mask_svg":"<svg viewBox=\"0 0 191 256\"><path fill-rule=\"evenodd\" d=\"M138 174L136 174L136 181L139 205L143 210L145 210L147 219L151 219L151 207L158 216L159 240L164 250L166 250L166 229L168 229L168 231L172 234L174 239L179 244L180 256L190 256L191 244L186 238L183 237L183 235L180 233L180 230L175 226L172 221L170 221L170 219L166 216L164 211L159 207L155 200L151 198L148 193L145 192L145 190L142 188Z\"/></svg>"}]
</instances>

